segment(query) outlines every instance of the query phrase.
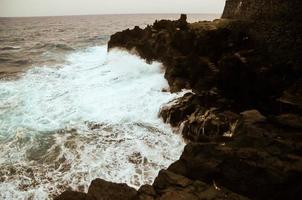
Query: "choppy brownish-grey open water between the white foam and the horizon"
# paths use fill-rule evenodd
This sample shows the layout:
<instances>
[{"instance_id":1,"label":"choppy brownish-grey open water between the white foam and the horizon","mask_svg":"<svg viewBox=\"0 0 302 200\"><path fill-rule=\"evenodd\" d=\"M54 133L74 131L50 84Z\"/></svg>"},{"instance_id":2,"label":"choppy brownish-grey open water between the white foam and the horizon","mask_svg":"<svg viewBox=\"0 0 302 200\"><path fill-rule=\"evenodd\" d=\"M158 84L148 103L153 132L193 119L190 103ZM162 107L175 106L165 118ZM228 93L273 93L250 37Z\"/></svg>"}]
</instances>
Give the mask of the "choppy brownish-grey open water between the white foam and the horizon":
<instances>
[{"instance_id":1,"label":"choppy brownish-grey open water between the white foam and the horizon","mask_svg":"<svg viewBox=\"0 0 302 200\"><path fill-rule=\"evenodd\" d=\"M83 48L104 45L110 35L145 27L156 19L179 15L99 15L34 18L0 18L0 73L16 72L32 65L64 62L65 55ZM219 15L189 15L189 21ZM1 75L1 74L0 74Z\"/></svg>"}]
</instances>

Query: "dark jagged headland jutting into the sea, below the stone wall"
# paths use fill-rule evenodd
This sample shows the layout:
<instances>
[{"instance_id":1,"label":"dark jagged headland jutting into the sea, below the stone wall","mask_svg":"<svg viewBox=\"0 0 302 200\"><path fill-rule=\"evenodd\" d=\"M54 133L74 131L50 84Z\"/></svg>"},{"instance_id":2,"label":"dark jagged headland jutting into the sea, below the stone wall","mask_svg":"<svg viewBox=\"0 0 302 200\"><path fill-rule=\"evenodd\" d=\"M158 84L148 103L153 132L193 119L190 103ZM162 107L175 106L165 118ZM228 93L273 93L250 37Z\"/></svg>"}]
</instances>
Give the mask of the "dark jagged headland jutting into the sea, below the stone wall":
<instances>
[{"instance_id":1,"label":"dark jagged headland jutting into the sea, below the stone wall","mask_svg":"<svg viewBox=\"0 0 302 200\"><path fill-rule=\"evenodd\" d=\"M184 19L156 21L146 29L116 33L108 48L125 48L148 62L161 61L171 92L217 90L241 110L279 109L276 99L300 83L302 62L297 52L301 52L302 34L298 31L278 36L270 32L273 27L254 21L220 19L188 24ZM267 24L273 24L270 22Z\"/></svg>"}]
</instances>

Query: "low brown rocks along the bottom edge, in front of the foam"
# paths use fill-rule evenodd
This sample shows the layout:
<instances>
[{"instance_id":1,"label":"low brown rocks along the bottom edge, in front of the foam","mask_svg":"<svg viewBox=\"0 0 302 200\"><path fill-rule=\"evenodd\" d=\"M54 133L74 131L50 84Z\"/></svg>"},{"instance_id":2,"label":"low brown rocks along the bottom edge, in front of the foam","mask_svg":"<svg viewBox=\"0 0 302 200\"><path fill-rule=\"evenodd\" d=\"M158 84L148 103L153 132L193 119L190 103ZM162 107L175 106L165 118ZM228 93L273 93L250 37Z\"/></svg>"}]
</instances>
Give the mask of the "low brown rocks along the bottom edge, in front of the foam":
<instances>
[{"instance_id":1,"label":"low brown rocks along the bottom edge, in front of the foam","mask_svg":"<svg viewBox=\"0 0 302 200\"><path fill-rule=\"evenodd\" d=\"M138 191L125 184L96 179L87 194L66 191L56 200L248 200L248 198L218 188L215 183L190 180L168 170L159 172L154 184L143 185Z\"/></svg>"}]
</instances>

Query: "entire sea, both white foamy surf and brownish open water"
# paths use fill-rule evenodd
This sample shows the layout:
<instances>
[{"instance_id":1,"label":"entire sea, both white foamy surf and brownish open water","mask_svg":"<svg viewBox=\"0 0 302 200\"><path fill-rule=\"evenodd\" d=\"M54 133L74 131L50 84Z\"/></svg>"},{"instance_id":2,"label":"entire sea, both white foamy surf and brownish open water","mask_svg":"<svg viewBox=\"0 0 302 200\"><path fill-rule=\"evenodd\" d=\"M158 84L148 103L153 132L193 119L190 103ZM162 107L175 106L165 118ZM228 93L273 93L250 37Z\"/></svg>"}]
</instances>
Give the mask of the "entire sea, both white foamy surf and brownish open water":
<instances>
[{"instance_id":1,"label":"entire sea, both white foamy surf and brownish open water","mask_svg":"<svg viewBox=\"0 0 302 200\"><path fill-rule=\"evenodd\" d=\"M87 192L95 178L138 188L179 158L185 142L158 111L185 91L163 92L161 63L106 46L117 31L178 17L0 18L0 199Z\"/></svg>"}]
</instances>

